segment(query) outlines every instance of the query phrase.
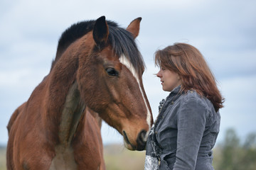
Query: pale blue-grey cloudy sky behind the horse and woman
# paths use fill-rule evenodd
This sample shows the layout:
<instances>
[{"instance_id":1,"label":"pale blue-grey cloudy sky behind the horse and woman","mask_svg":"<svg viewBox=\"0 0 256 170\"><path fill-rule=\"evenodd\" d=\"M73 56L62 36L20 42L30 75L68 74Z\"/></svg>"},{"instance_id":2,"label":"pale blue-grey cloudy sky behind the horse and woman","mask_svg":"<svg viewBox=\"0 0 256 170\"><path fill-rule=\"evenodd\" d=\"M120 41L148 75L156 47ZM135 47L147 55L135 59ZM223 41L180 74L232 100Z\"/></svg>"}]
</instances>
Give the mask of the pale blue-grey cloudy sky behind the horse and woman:
<instances>
[{"instance_id":1,"label":"pale blue-grey cloudy sky behind the horse and woman","mask_svg":"<svg viewBox=\"0 0 256 170\"><path fill-rule=\"evenodd\" d=\"M225 97L220 135L235 128L240 137L256 132L256 1L255 0L3 0L0 2L0 145L8 140L6 125L50 70L58 38L71 24L106 16L126 28L142 17L137 38L146 63L144 87L154 119L161 90L154 52L187 42L200 50ZM108 125L105 144L122 143Z\"/></svg>"}]
</instances>

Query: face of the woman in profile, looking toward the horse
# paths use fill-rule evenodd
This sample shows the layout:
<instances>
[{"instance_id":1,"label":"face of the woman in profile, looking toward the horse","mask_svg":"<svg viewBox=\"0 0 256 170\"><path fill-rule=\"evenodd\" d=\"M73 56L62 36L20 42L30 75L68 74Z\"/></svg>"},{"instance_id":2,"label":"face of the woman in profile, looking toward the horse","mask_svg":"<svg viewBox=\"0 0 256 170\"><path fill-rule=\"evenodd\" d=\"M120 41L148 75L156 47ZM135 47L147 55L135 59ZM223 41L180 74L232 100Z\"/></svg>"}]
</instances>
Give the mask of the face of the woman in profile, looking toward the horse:
<instances>
[{"instance_id":1,"label":"face of the woman in profile, looking toward the horse","mask_svg":"<svg viewBox=\"0 0 256 170\"><path fill-rule=\"evenodd\" d=\"M172 91L176 86L181 84L178 74L169 69L161 68L156 76L160 78L164 91Z\"/></svg>"}]
</instances>

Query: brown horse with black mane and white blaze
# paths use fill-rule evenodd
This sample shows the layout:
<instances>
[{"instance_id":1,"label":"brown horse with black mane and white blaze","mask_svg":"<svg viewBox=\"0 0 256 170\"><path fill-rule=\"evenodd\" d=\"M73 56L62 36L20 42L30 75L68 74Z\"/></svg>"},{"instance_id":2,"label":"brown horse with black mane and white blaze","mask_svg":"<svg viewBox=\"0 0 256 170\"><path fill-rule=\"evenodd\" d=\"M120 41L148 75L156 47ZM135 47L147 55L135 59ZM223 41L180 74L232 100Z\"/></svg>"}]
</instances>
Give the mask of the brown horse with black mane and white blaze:
<instances>
[{"instance_id":1,"label":"brown horse with black mane and white blaze","mask_svg":"<svg viewBox=\"0 0 256 170\"><path fill-rule=\"evenodd\" d=\"M7 125L7 169L105 169L101 120L143 150L153 123L136 42L142 18L83 21L58 41L49 74Z\"/></svg>"}]
</instances>

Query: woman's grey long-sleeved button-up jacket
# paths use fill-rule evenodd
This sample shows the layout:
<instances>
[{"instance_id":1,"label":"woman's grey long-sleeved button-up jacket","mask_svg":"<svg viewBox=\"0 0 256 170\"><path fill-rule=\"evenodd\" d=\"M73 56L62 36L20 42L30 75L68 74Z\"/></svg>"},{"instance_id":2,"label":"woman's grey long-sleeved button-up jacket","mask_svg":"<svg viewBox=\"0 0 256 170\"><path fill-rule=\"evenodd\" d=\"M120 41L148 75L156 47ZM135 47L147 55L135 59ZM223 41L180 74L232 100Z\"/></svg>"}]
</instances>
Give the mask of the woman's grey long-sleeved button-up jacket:
<instances>
[{"instance_id":1,"label":"woman's grey long-sleeved button-up jacket","mask_svg":"<svg viewBox=\"0 0 256 170\"><path fill-rule=\"evenodd\" d=\"M181 86L176 87L166 98L154 123L154 132L149 135L146 156L157 157L159 169L212 170L220 113L196 91L179 94L180 89Z\"/></svg>"}]
</instances>

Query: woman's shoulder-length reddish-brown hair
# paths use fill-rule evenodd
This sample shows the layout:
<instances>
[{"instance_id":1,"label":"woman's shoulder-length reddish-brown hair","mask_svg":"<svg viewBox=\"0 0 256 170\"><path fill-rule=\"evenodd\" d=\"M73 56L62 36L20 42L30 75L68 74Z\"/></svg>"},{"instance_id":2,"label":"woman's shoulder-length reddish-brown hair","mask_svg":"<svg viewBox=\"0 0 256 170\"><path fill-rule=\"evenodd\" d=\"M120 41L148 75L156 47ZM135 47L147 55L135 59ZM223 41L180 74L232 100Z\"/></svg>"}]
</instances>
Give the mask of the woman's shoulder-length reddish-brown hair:
<instances>
[{"instance_id":1,"label":"woman's shoulder-length reddish-brown hair","mask_svg":"<svg viewBox=\"0 0 256 170\"><path fill-rule=\"evenodd\" d=\"M206 60L196 47L175 43L155 52L155 64L181 77L181 91L196 90L213 103L215 111L223 108L224 98L216 85Z\"/></svg>"}]
</instances>

